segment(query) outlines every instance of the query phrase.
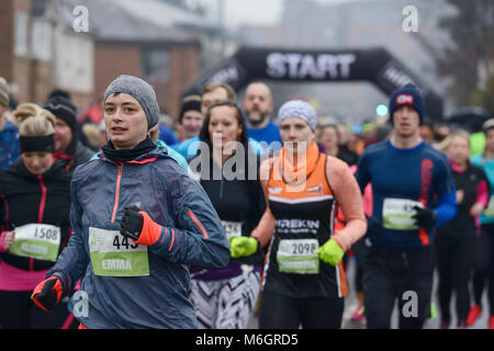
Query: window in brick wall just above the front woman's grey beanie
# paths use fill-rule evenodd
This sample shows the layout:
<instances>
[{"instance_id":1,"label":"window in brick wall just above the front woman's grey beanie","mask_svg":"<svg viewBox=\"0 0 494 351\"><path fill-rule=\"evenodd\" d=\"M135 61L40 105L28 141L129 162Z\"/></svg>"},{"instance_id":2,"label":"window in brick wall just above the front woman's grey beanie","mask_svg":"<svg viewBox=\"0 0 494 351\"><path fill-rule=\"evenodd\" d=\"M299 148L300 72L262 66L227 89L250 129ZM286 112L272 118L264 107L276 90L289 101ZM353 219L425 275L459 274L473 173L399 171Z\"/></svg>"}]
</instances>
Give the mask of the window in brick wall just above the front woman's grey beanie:
<instances>
[{"instance_id":1,"label":"window in brick wall just above the front woman's grey beanie","mask_svg":"<svg viewBox=\"0 0 494 351\"><path fill-rule=\"evenodd\" d=\"M148 48L143 52L143 72L150 83L167 83L170 78L170 53L162 48Z\"/></svg>"}]
</instances>

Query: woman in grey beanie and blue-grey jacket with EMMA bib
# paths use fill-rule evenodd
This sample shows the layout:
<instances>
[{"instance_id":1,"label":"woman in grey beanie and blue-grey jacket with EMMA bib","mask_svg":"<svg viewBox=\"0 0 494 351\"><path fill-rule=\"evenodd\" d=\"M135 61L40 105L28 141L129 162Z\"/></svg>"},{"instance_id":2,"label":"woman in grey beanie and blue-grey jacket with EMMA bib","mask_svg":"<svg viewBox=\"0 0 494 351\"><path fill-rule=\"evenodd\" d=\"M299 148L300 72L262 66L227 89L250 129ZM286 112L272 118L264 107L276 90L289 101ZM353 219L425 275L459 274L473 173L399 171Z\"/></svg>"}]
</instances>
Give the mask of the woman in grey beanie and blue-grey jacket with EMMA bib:
<instances>
[{"instance_id":1,"label":"woman in grey beanie and blue-grey jacket with EMMA bib","mask_svg":"<svg viewBox=\"0 0 494 351\"><path fill-rule=\"evenodd\" d=\"M148 138L159 113L153 88L121 76L103 103L109 143L74 173L74 234L32 298L50 310L85 274L69 304L80 328L195 328L188 267L228 263L221 220L200 184Z\"/></svg>"}]
</instances>

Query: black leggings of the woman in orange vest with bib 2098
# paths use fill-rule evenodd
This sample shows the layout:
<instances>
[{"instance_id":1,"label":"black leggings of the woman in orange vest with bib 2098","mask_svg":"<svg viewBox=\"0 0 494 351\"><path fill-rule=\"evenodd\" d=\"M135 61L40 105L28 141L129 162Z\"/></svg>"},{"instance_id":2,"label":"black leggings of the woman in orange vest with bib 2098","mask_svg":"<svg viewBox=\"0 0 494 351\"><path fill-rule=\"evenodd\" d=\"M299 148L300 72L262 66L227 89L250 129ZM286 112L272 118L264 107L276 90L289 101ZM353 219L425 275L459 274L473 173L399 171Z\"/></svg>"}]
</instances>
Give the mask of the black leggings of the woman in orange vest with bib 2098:
<instances>
[{"instance_id":1,"label":"black leggings of the woman in orange vest with bib 2098","mask_svg":"<svg viewBox=\"0 0 494 351\"><path fill-rule=\"evenodd\" d=\"M292 298L262 292L259 329L340 329L344 298Z\"/></svg>"}]
</instances>

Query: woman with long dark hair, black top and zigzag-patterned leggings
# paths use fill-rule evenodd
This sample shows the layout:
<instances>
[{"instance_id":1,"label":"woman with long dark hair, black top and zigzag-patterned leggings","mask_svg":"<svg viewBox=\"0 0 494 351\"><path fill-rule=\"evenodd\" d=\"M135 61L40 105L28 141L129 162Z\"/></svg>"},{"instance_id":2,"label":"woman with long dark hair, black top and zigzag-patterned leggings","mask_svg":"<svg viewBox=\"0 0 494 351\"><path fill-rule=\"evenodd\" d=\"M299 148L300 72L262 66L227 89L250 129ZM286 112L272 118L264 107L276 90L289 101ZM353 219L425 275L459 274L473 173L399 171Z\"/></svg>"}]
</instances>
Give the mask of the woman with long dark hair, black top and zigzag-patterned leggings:
<instances>
[{"instance_id":1,"label":"woman with long dark hair, black top and zigzag-patterned leggings","mask_svg":"<svg viewBox=\"0 0 494 351\"><path fill-rule=\"evenodd\" d=\"M248 238L266 203L257 177L258 156L249 148L245 120L235 102L220 100L209 107L200 139L206 149L190 162L198 165L201 185L228 239ZM190 299L200 328L247 326L256 307L265 253L258 250L248 257L233 258L220 270L193 271Z\"/></svg>"}]
</instances>

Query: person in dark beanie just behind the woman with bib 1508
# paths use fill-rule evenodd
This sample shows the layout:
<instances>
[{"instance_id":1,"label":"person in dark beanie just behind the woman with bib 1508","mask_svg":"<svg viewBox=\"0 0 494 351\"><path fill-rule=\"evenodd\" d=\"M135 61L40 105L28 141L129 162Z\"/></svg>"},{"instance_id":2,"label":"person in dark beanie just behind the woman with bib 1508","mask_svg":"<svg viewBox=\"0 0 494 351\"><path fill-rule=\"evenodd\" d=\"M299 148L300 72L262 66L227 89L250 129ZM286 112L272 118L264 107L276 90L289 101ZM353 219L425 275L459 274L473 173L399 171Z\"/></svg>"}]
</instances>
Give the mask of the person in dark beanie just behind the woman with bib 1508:
<instances>
[{"instance_id":1,"label":"person in dark beanie just behind the woman with bib 1508","mask_svg":"<svg viewBox=\"0 0 494 351\"><path fill-rule=\"evenodd\" d=\"M76 135L77 109L70 100L64 97L50 98L44 109L57 118L55 125L55 154L54 158L67 160L67 169L89 161L94 151L80 143Z\"/></svg>"}]
</instances>

